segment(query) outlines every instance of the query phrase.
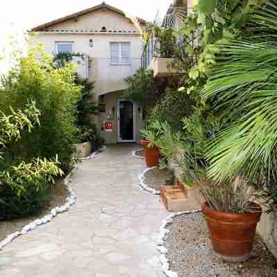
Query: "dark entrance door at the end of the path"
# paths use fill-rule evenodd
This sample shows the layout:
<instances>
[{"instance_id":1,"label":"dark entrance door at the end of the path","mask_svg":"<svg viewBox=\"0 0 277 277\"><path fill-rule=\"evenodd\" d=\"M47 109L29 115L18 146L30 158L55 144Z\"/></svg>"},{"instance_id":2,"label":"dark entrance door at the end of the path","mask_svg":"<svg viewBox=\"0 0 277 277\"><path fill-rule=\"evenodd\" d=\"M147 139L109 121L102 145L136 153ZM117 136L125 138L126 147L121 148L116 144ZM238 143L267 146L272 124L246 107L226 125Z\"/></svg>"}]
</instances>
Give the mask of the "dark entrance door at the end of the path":
<instances>
[{"instance_id":1,"label":"dark entrance door at the end of the path","mask_svg":"<svg viewBox=\"0 0 277 277\"><path fill-rule=\"evenodd\" d=\"M134 105L127 100L119 100L118 141L134 142Z\"/></svg>"}]
</instances>

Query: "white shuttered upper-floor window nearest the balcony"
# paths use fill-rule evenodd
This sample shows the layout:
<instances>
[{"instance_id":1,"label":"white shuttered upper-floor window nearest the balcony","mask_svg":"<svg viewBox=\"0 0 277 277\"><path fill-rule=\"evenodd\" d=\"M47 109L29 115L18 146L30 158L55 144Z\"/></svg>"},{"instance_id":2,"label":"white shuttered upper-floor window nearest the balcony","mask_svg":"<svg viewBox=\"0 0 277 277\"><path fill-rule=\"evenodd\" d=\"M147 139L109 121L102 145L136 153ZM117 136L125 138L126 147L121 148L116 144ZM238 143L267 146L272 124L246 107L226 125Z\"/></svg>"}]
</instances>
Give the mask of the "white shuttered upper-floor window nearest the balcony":
<instances>
[{"instance_id":1,"label":"white shuttered upper-floor window nearest the balcony","mask_svg":"<svg viewBox=\"0 0 277 277\"><path fill-rule=\"evenodd\" d=\"M129 42L111 42L111 64L130 63Z\"/></svg>"}]
</instances>

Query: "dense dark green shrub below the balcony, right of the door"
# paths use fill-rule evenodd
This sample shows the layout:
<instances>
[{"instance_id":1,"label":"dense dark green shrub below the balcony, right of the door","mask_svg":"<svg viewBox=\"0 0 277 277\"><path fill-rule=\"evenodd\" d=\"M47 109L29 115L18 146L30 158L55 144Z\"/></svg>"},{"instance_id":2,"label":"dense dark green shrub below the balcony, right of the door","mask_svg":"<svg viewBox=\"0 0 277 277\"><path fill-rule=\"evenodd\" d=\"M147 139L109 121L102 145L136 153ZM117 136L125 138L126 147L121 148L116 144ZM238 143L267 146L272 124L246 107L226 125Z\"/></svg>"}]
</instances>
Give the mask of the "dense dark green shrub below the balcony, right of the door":
<instances>
[{"instance_id":1,"label":"dense dark green shrub below the balcony, right of the door","mask_svg":"<svg viewBox=\"0 0 277 277\"><path fill-rule=\"evenodd\" d=\"M188 116L193 109L194 102L183 92L167 89L166 96L158 100L154 109L150 112L150 122L166 122L174 131L182 129L181 120Z\"/></svg>"}]
</instances>

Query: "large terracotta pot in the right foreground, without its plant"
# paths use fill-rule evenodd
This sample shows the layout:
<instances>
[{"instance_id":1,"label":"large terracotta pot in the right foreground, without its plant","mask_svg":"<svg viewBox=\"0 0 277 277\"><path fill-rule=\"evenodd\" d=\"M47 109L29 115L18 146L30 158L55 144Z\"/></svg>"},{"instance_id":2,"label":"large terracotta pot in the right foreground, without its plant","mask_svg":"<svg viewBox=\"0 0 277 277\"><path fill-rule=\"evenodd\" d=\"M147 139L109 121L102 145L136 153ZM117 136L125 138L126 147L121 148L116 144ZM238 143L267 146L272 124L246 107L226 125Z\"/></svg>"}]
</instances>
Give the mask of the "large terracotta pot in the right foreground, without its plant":
<instances>
[{"instance_id":1,"label":"large terracotta pot in the right foreground, without its plant","mask_svg":"<svg viewBox=\"0 0 277 277\"><path fill-rule=\"evenodd\" d=\"M262 208L256 203L253 205L256 213L240 214L212 211L207 203L202 205L213 250L224 260L239 262L250 258L256 226L262 215Z\"/></svg>"}]
</instances>

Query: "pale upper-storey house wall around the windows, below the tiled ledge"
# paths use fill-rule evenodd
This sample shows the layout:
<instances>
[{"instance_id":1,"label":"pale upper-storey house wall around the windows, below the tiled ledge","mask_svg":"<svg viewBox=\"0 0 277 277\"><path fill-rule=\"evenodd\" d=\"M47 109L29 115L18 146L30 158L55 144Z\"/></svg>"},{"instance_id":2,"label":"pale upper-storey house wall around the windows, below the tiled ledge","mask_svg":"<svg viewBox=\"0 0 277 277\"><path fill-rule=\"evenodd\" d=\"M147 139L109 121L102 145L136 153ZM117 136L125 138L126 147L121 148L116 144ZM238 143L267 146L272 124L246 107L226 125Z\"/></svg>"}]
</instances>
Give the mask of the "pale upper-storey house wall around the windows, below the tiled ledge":
<instances>
[{"instance_id":1,"label":"pale upper-storey house wall around the windows, below the tiled ledge","mask_svg":"<svg viewBox=\"0 0 277 277\"><path fill-rule=\"evenodd\" d=\"M133 75L141 66L143 42L139 35L41 33L30 36L32 44L44 44L47 53L55 53L55 42L73 42L74 53L89 55L89 80L95 82L93 93L96 98L110 91L126 89L123 78ZM93 39L93 47L89 47L89 39ZM130 43L131 59L128 65L111 65L111 42Z\"/></svg>"}]
</instances>

